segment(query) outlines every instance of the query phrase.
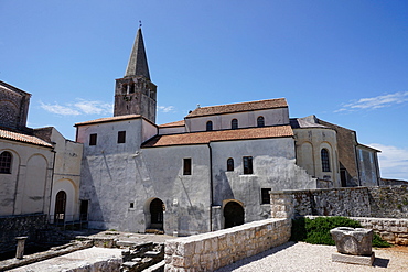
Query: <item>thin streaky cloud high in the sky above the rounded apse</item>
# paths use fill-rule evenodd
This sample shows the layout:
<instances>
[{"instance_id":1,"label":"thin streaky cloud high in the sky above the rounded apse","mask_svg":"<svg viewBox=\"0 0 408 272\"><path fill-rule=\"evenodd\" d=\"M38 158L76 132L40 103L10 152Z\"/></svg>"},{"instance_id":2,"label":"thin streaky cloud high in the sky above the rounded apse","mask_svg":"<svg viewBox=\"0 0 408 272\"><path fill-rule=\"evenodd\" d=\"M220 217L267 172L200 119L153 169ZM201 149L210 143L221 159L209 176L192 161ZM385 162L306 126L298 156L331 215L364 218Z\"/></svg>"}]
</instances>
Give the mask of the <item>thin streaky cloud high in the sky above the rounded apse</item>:
<instances>
[{"instance_id":1,"label":"thin streaky cloud high in the sky above the rounded apse","mask_svg":"<svg viewBox=\"0 0 408 272\"><path fill-rule=\"evenodd\" d=\"M408 102L408 91L398 91L398 93L383 95L383 96L361 98L357 101L343 105L343 107L336 110L335 112L359 110L359 109L378 109L378 108L390 107L396 104L405 104L405 102Z\"/></svg>"}]
</instances>

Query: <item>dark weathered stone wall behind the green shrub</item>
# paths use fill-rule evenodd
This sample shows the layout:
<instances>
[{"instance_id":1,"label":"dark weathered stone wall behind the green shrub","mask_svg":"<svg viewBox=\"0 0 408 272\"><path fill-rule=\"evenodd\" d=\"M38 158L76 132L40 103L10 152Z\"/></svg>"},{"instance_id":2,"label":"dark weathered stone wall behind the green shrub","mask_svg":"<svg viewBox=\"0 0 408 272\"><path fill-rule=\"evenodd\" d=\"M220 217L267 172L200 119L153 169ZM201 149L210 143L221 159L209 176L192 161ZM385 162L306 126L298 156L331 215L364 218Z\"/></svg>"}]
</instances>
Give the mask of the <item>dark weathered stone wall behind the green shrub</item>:
<instances>
[{"instance_id":1,"label":"dark weathered stone wall behind the green shrub","mask_svg":"<svg viewBox=\"0 0 408 272\"><path fill-rule=\"evenodd\" d=\"M272 217L275 210L291 217L408 218L408 185L271 192L271 205Z\"/></svg>"}]
</instances>

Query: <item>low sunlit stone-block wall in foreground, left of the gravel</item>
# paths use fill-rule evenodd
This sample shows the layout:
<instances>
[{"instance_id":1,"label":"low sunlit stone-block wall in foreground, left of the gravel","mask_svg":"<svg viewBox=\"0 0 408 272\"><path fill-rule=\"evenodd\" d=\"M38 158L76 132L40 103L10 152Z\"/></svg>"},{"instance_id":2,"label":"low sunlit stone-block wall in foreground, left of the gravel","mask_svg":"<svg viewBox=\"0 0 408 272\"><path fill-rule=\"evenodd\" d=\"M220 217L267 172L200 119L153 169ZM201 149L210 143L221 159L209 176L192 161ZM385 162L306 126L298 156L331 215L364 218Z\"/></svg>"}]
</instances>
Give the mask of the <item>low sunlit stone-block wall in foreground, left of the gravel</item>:
<instances>
[{"instance_id":1,"label":"low sunlit stone-block wall in foreground, left of the gravel","mask_svg":"<svg viewBox=\"0 0 408 272\"><path fill-rule=\"evenodd\" d=\"M213 271L287 242L291 220L266 219L165 242L164 271Z\"/></svg>"}]
</instances>

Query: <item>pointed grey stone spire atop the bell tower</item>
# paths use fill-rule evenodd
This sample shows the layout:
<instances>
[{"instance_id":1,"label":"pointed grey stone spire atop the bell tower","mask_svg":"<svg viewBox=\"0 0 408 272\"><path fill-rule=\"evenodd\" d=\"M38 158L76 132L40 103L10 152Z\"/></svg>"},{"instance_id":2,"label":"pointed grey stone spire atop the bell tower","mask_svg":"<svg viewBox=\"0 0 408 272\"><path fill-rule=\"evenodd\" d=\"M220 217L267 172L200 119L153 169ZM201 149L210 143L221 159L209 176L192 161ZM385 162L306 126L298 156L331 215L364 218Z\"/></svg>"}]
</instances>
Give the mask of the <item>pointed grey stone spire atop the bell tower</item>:
<instances>
[{"instance_id":1,"label":"pointed grey stone spire atop the bell tower","mask_svg":"<svg viewBox=\"0 0 408 272\"><path fill-rule=\"evenodd\" d=\"M141 33L141 22L139 21L138 33L135 39L133 47L130 53L128 67L125 77L144 76L150 80L148 58L146 56L143 35Z\"/></svg>"}]
</instances>

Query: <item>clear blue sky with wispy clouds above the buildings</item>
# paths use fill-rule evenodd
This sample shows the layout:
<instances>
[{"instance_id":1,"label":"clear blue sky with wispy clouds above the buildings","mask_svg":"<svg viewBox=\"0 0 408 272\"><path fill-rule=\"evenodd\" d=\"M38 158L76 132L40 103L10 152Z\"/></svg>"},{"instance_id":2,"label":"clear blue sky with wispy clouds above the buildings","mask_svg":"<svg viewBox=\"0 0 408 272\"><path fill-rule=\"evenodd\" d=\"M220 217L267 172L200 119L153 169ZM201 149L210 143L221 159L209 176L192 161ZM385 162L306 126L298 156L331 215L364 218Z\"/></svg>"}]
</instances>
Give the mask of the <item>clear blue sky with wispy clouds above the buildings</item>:
<instances>
[{"instance_id":1,"label":"clear blue sky with wispy clouds above the buildings","mask_svg":"<svg viewBox=\"0 0 408 272\"><path fill-rule=\"evenodd\" d=\"M158 123L196 107L284 97L382 150L408 179L408 2L1 0L0 80L32 94L29 127L111 116L139 20Z\"/></svg>"}]
</instances>

